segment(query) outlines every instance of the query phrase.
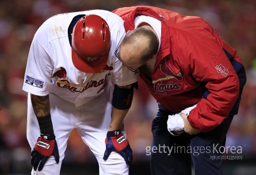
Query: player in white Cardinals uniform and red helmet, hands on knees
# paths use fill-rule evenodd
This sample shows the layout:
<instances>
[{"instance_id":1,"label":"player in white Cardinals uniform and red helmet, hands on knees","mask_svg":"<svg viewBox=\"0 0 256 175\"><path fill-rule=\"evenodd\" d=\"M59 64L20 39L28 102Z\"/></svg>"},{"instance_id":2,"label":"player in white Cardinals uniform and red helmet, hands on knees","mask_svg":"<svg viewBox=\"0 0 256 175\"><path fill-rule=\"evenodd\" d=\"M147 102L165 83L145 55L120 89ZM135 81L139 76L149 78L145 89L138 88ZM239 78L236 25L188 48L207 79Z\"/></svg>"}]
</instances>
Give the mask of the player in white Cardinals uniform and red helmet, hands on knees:
<instances>
[{"instance_id":1,"label":"player in white Cardinals uniform and red helmet, hands on knees","mask_svg":"<svg viewBox=\"0 0 256 175\"><path fill-rule=\"evenodd\" d=\"M56 15L38 29L23 86L31 174L60 174L74 128L99 174L129 173L133 156L122 121L138 75L114 55L124 36L121 18L102 10Z\"/></svg>"}]
</instances>

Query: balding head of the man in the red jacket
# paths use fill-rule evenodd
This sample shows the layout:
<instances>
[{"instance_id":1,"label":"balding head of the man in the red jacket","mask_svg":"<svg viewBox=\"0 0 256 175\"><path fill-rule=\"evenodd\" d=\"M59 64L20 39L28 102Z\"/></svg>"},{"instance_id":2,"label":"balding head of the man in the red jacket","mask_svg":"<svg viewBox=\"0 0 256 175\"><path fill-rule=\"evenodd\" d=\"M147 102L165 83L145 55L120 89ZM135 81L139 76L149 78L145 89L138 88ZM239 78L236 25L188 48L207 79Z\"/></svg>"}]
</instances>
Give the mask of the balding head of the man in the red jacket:
<instances>
[{"instance_id":1,"label":"balding head of the man in the red jacket","mask_svg":"<svg viewBox=\"0 0 256 175\"><path fill-rule=\"evenodd\" d=\"M140 67L158 50L157 36L147 27L130 31L124 37L119 51L120 60L126 66Z\"/></svg>"}]
</instances>

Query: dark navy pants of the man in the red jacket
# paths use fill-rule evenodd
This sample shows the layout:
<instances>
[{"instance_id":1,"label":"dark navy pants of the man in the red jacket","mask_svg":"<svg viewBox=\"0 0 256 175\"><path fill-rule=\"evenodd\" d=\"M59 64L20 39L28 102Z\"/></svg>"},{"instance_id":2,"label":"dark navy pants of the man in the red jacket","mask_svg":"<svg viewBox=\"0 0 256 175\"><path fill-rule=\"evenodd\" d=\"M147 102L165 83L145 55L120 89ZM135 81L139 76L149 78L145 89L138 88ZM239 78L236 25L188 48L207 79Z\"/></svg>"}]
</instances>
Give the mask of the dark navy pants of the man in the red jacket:
<instances>
[{"instance_id":1,"label":"dark navy pants of the man in the red jacket","mask_svg":"<svg viewBox=\"0 0 256 175\"><path fill-rule=\"evenodd\" d=\"M233 116L226 118L218 127L207 133L173 136L167 130L168 115L174 114L159 104L159 112L152 122L151 173L191 174L191 160L195 174L221 174L221 155L226 133Z\"/></svg>"}]
</instances>

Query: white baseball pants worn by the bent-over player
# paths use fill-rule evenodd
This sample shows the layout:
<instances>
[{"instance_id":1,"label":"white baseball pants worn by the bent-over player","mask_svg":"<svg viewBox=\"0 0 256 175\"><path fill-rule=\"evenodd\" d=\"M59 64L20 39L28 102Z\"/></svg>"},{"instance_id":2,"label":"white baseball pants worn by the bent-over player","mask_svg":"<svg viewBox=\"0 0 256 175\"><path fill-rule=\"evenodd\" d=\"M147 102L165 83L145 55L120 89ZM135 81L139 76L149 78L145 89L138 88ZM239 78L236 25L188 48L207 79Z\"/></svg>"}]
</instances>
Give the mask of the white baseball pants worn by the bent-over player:
<instances>
[{"instance_id":1,"label":"white baseball pants worn by the bent-over player","mask_svg":"<svg viewBox=\"0 0 256 175\"><path fill-rule=\"evenodd\" d=\"M60 162L57 164L54 156L51 156L42 171L35 171L32 168L31 174L60 174L67 140L74 128L77 129L83 142L89 146L96 156L99 163L99 174L129 174L129 166L118 153L111 152L108 159L103 160L105 138L111 120L112 107L103 95L82 106L75 107L73 103L63 100L55 94L49 94L51 118L58 143ZM38 121L32 108L30 94L28 94L27 139L31 149L34 148L39 136Z\"/></svg>"}]
</instances>

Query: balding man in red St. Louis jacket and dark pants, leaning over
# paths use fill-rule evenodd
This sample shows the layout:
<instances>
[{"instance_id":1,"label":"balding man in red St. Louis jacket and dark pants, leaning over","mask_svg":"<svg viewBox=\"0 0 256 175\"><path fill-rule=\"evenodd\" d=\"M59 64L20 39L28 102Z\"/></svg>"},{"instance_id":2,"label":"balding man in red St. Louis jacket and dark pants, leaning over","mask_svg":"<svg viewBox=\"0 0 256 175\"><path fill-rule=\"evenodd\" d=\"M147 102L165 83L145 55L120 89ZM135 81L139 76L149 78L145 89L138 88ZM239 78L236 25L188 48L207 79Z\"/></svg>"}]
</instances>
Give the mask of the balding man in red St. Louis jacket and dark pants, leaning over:
<instances>
[{"instance_id":1,"label":"balding man in red St. Louis jacket and dark pants, leaning over","mask_svg":"<svg viewBox=\"0 0 256 175\"><path fill-rule=\"evenodd\" d=\"M195 174L221 174L222 160L212 157L223 152L246 82L236 51L199 17L149 6L113 13L127 32L116 57L135 74L140 70L159 104L152 174L191 174L191 158Z\"/></svg>"}]
</instances>

